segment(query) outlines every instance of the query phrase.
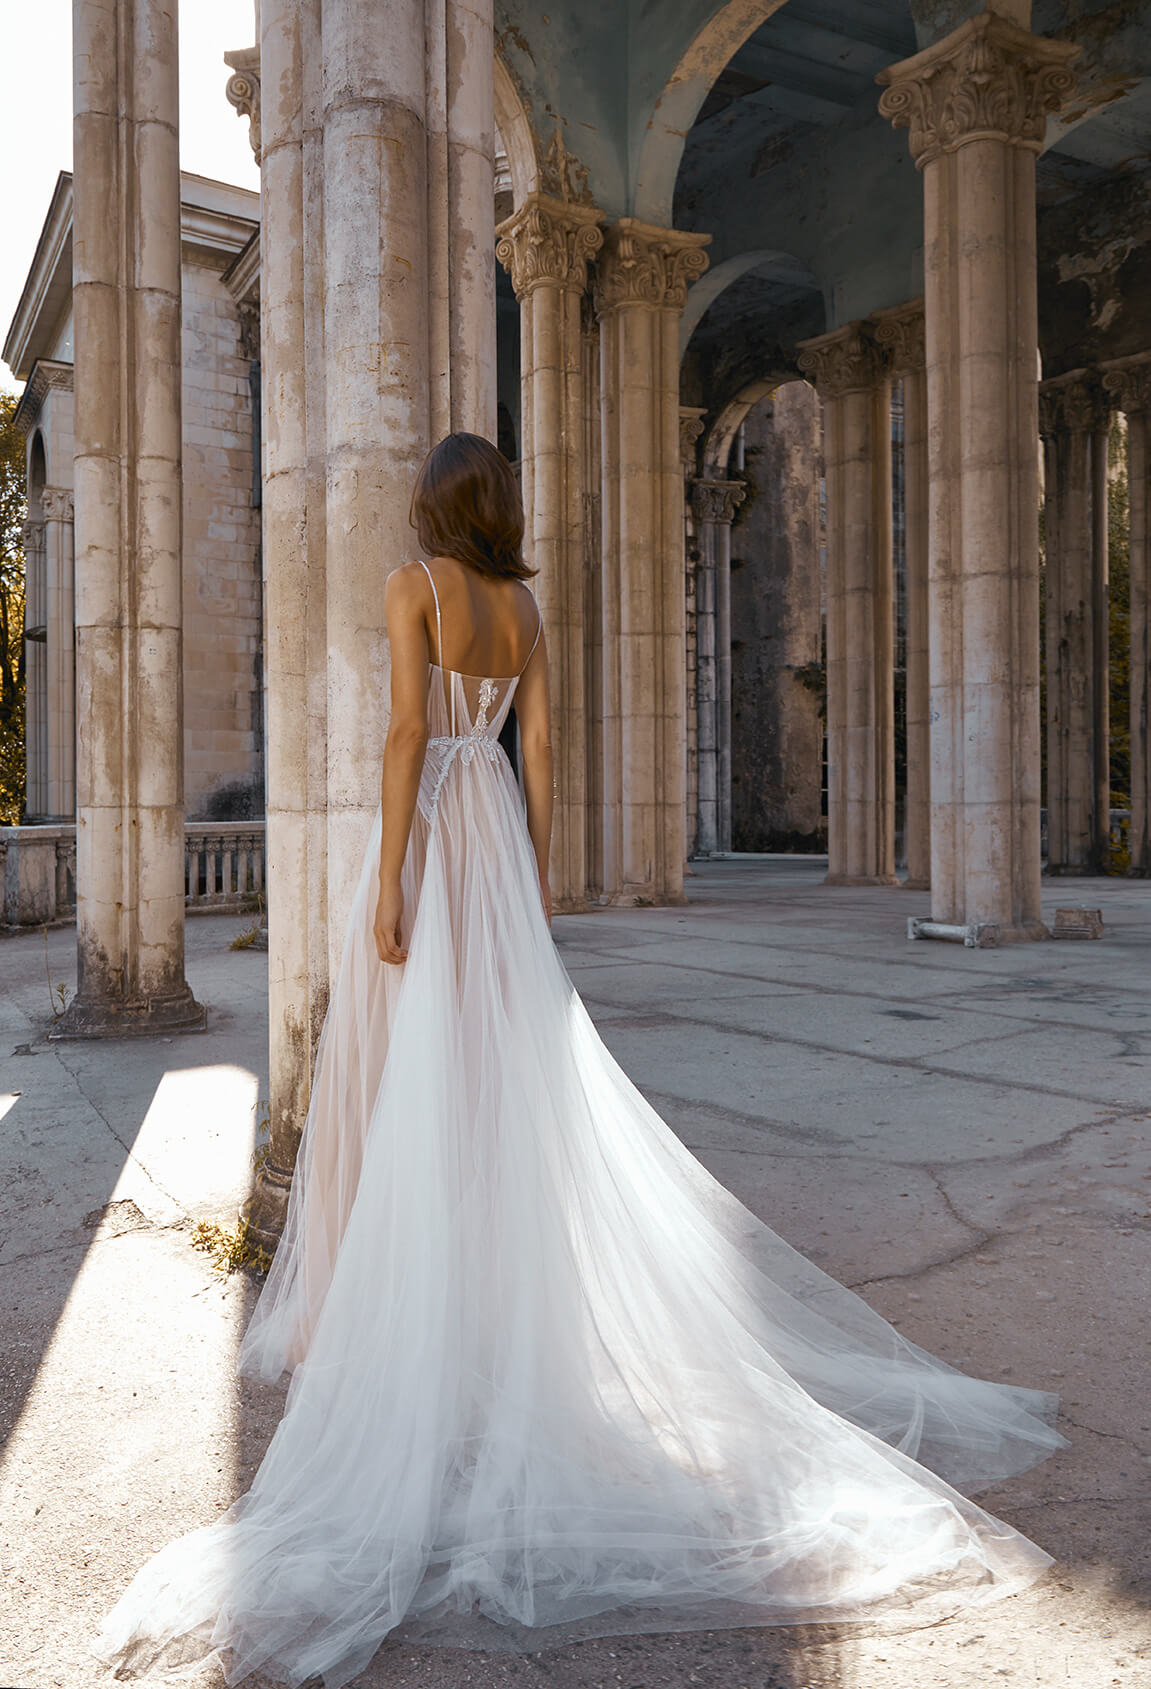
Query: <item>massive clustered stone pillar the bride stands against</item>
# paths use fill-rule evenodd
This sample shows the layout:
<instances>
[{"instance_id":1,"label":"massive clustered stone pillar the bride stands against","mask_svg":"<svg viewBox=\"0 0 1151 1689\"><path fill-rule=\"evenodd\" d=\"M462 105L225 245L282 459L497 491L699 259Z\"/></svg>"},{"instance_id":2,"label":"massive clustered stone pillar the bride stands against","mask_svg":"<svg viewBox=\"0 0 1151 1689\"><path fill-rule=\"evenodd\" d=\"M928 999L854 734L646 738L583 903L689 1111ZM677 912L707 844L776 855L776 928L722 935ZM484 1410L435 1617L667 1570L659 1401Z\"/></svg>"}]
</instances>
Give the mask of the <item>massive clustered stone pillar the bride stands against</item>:
<instances>
[{"instance_id":1,"label":"massive clustered stone pillar the bride stands against","mask_svg":"<svg viewBox=\"0 0 1151 1689\"><path fill-rule=\"evenodd\" d=\"M495 145L490 0L264 0L260 27L274 1240L379 804L384 583L428 446L495 437Z\"/></svg>"}]
</instances>

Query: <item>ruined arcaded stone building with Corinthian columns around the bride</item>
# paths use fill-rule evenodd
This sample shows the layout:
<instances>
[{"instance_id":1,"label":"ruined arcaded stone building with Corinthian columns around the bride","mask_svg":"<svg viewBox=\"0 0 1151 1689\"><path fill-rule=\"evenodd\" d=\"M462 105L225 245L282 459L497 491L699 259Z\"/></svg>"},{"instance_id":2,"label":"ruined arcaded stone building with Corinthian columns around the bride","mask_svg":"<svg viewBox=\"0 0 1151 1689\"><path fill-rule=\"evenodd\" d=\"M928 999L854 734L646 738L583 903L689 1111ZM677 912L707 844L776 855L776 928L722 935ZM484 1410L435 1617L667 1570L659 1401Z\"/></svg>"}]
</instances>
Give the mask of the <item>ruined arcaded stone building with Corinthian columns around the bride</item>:
<instances>
[{"instance_id":1,"label":"ruined arcaded stone building with Corinthian columns around the bride","mask_svg":"<svg viewBox=\"0 0 1151 1689\"><path fill-rule=\"evenodd\" d=\"M103 7L76 7L73 1034L199 1015L176 42L159 0L115 5L147 76L117 64ZM1007 942L1046 936L1041 486L1050 865L1105 850L1122 412L1131 865L1151 870L1149 12L260 0L255 42L221 44L262 172L257 1230L282 1213L377 802L382 583L450 429L521 466L559 907L674 902L691 851L823 836L830 882L892 883L899 672L908 883L935 931ZM213 284L237 306L243 262ZM44 385L29 404L56 402Z\"/></svg>"}]
</instances>

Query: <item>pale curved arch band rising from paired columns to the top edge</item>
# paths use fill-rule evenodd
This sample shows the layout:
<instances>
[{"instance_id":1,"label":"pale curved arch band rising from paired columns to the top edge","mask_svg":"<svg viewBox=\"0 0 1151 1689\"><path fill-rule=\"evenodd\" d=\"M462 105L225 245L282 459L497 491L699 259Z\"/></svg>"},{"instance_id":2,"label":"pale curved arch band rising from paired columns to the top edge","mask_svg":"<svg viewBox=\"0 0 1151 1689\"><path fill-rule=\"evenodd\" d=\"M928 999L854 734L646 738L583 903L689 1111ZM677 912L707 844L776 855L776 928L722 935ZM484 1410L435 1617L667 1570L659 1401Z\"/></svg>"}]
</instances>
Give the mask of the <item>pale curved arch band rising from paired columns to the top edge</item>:
<instances>
[{"instance_id":1,"label":"pale curved arch band rising from paired columns to the top edge","mask_svg":"<svg viewBox=\"0 0 1151 1689\"><path fill-rule=\"evenodd\" d=\"M647 118L636 157L634 215L671 225L671 203L688 130L712 83L784 0L725 0L696 30Z\"/></svg>"}]
</instances>

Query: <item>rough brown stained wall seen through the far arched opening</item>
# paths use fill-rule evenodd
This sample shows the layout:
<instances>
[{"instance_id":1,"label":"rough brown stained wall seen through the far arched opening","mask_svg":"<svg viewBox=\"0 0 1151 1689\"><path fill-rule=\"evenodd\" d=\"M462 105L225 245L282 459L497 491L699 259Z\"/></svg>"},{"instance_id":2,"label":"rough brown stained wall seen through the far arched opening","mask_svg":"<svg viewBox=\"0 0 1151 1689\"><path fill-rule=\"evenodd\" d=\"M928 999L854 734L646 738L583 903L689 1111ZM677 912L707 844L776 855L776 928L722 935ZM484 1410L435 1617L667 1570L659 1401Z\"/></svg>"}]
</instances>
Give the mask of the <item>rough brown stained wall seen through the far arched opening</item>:
<instances>
[{"instance_id":1,"label":"rough brown stained wall seen through the far arched opening","mask_svg":"<svg viewBox=\"0 0 1151 1689\"><path fill-rule=\"evenodd\" d=\"M815 851L820 817L820 404L788 382L744 422L732 529L732 850Z\"/></svg>"}]
</instances>

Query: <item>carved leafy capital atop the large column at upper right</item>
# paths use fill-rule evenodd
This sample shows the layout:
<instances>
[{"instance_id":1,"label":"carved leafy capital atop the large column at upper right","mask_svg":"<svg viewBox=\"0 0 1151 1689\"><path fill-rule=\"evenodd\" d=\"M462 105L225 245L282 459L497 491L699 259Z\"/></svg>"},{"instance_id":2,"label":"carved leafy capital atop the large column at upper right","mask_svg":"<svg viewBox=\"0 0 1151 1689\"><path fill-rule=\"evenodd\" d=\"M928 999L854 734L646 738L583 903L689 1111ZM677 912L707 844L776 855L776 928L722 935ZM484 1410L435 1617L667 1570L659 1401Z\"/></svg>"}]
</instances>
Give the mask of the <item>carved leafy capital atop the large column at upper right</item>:
<instances>
[{"instance_id":1,"label":"carved leafy capital atop the large column at upper right","mask_svg":"<svg viewBox=\"0 0 1151 1689\"><path fill-rule=\"evenodd\" d=\"M891 64L879 111L911 132L911 157L923 169L968 140L1004 140L1039 152L1046 113L1075 86L1070 69L1080 49L980 12L923 52Z\"/></svg>"}]
</instances>

